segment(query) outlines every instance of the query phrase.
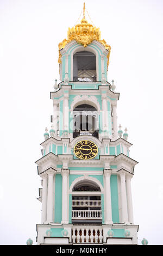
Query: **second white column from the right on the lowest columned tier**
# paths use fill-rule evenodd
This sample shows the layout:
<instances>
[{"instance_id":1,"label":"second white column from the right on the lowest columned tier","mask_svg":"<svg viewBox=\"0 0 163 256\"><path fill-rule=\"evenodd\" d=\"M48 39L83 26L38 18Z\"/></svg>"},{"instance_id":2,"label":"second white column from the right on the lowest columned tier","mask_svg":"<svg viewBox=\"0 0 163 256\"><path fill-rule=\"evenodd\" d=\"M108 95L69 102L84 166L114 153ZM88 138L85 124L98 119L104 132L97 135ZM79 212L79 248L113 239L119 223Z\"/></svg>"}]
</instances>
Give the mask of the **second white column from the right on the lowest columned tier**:
<instances>
[{"instance_id":1,"label":"second white column from the right on the lowest columned tier","mask_svg":"<svg viewBox=\"0 0 163 256\"><path fill-rule=\"evenodd\" d=\"M122 206L122 222L128 223L127 197L126 197L126 174L120 173L121 179L121 206Z\"/></svg>"}]
</instances>

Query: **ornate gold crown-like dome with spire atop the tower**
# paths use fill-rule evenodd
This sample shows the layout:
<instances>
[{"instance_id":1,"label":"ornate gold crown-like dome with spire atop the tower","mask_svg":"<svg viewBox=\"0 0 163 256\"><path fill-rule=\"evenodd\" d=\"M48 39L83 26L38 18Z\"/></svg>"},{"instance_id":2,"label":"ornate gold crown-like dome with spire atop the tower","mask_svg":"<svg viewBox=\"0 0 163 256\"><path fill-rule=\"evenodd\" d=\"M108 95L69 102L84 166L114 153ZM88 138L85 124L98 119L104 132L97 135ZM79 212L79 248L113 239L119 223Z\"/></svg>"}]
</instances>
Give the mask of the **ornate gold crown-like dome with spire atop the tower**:
<instances>
[{"instance_id":1,"label":"ornate gold crown-like dome with spire atop the tower","mask_svg":"<svg viewBox=\"0 0 163 256\"><path fill-rule=\"evenodd\" d=\"M68 42L72 40L76 40L78 44L83 45L86 47L87 45L91 44L93 40L101 42L101 44L108 50L108 63L109 65L109 56L110 56L110 45L107 45L105 40L101 40L101 32L99 28L93 27L93 25L89 24L85 19L85 3L83 6L83 19L81 20L80 24L77 24L75 27L68 28L67 32L67 39L64 39L62 42L59 43L59 59L58 62L61 63L61 54L60 50L64 48Z\"/></svg>"}]
</instances>

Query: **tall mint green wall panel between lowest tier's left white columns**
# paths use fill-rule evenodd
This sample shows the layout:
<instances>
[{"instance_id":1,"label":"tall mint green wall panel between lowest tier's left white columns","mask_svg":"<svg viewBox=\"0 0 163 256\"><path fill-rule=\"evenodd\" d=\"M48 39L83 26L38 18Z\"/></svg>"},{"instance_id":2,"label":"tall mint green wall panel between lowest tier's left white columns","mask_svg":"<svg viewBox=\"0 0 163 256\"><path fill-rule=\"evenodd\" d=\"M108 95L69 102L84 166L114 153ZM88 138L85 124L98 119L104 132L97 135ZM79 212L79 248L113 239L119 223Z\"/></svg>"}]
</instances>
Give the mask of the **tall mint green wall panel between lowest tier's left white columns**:
<instances>
[{"instance_id":1,"label":"tall mint green wall panel between lowest tier's left white columns","mask_svg":"<svg viewBox=\"0 0 163 256\"><path fill-rule=\"evenodd\" d=\"M54 203L54 222L61 223L62 218L62 176L55 175L55 203Z\"/></svg>"}]
</instances>

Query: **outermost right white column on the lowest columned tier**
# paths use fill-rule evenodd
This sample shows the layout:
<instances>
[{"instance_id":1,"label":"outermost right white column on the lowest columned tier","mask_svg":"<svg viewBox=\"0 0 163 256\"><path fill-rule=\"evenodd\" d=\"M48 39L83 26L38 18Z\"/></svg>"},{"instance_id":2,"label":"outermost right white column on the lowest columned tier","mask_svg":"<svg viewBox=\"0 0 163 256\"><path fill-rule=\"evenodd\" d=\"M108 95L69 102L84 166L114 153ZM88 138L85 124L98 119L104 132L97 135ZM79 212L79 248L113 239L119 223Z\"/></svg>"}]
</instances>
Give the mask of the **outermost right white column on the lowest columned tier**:
<instances>
[{"instance_id":1,"label":"outermost right white column on the lowest columned tier","mask_svg":"<svg viewBox=\"0 0 163 256\"><path fill-rule=\"evenodd\" d=\"M131 178L132 176L127 174L126 176L126 192L127 192L127 205L128 205L128 221L134 223L133 220L133 201L131 195Z\"/></svg>"}]
</instances>

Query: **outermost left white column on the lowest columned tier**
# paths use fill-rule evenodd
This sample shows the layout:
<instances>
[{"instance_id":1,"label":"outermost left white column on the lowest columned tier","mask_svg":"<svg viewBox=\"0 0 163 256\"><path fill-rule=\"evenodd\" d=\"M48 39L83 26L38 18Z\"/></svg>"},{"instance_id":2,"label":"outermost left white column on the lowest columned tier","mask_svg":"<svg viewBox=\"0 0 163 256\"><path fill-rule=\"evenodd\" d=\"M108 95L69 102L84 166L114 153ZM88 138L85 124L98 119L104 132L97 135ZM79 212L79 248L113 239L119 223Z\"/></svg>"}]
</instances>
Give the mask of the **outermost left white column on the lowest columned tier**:
<instances>
[{"instance_id":1,"label":"outermost left white column on the lowest columned tier","mask_svg":"<svg viewBox=\"0 0 163 256\"><path fill-rule=\"evenodd\" d=\"M47 217L47 174L43 173L40 175L43 180L42 186L42 214L41 214L41 223L46 222Z\"/></svg>"}]
</instances>

